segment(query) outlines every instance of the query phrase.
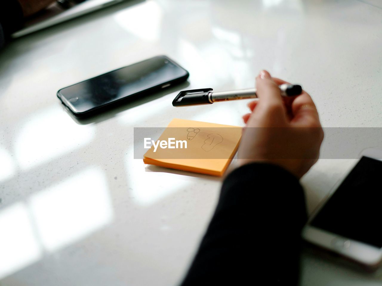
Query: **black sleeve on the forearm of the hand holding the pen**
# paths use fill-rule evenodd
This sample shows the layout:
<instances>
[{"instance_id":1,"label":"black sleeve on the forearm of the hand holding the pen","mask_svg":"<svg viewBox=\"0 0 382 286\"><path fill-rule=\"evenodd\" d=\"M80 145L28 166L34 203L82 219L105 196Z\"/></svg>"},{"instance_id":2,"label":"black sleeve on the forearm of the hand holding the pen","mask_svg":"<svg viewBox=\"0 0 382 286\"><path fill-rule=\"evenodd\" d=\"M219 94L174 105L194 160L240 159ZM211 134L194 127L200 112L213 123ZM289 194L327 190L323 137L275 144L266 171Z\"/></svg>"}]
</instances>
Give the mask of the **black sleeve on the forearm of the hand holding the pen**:
<instances>
[{"instance_id":1,"label":"black sleeve on the forearm of the hand holding the pen","mask_svg":"<svg viewBox=\"0 0 382 286\"><path fill-rule=\"evenodd\" d=\"M241 166L225 178L181 286L296 285L306 219L295 176L272 164Z\"/></svg>"}]
</instances>

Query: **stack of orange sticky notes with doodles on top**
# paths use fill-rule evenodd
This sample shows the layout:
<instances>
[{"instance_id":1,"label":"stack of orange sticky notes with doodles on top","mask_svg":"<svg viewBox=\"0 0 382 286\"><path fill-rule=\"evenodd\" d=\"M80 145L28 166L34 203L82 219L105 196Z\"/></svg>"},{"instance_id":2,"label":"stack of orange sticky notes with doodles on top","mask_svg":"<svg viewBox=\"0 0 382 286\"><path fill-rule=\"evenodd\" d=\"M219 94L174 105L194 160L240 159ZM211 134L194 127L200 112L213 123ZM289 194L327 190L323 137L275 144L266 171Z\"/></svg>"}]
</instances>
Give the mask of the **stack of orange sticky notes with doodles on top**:
<instances>
[{"instance_id":1,"label":"stack of orange sticky notes with doodles on top","mask_svg":"<svg viewBox=\"0 0 382 286\"><path fill-rule=\"evenodd\" d=\"M143 162L222 176L235 156L241 131L238 126L173 119L144 154Z\"/></svg>"}]
</instances>

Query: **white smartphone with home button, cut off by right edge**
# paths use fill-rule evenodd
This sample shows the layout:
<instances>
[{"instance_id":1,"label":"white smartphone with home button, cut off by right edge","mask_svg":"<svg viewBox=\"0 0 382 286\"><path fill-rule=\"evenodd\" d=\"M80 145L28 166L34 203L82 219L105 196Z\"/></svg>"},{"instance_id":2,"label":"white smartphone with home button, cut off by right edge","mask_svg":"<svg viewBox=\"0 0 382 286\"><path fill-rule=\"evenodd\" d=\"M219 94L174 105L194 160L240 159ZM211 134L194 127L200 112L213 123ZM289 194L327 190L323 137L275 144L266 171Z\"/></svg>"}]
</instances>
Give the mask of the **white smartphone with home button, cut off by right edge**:
<instances>
[{"instance_id":1,"label":"white smartphone with home button, cut off by right edge","mask_svg":"<svg viewBox=\"0 0 382 286\"><path fill-rule=\"evenodd\" d=\"M302 231L305 240L368 267L382 259L382 150L365 149Z\"/></svg>"}]
</instances>

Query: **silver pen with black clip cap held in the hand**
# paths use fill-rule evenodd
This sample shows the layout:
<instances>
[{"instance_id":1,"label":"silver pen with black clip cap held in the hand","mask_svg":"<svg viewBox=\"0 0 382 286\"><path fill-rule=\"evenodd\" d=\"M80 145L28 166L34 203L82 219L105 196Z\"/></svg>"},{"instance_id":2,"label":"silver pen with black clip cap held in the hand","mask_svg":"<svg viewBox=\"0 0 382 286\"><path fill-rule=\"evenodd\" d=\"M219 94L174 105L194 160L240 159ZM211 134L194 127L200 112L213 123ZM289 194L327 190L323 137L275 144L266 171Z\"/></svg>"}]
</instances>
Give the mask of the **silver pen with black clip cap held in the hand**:
<instances>
[{"instance_id":1,"label":"silver pen with black clip cap held in the hand","mask_svg":"<svg viewBox=\"0 0 382 286\"><path fill-rule=\"evenodd\" d=\"M282 84L280 88L281 96L296 96L301 94L301 85ZM192 106L201 104L212 104L219 101L239 100L257 98L256 88L242 90L230 90L226 92L213 92L212 88L183 90L172 101L172 105Z\"/></svg>"}]
</instances>

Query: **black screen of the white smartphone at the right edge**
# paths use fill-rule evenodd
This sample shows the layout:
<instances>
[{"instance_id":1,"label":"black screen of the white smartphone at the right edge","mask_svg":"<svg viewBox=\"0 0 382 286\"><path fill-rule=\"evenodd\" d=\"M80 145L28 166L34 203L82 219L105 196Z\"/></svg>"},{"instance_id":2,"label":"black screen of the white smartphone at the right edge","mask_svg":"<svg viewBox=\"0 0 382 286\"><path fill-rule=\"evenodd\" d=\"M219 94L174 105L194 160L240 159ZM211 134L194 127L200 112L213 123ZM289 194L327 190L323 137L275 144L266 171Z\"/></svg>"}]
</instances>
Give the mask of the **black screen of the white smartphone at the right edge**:
<instances>
[{"instance_id":1,"label":"black screen of the white smartphone at the right edge","mask_svg":"<svg viewBox=\"0 0 382 286\"><path fill-rule=\"evenodd\" d=\"M382 247L382 161L361 157L311 225Z\"/></svg>"}]
</instances>

